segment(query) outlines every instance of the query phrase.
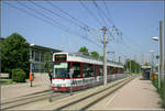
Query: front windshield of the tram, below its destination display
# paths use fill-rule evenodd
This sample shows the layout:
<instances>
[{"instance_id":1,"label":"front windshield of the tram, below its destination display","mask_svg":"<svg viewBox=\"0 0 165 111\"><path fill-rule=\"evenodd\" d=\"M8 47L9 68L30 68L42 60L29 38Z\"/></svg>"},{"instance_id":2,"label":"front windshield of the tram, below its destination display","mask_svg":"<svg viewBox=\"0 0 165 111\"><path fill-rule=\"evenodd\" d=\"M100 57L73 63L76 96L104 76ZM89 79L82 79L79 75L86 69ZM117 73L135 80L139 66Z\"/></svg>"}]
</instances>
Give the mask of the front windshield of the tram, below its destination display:
<instances>
[{"instance_id":1,"label":"front windshield of the tram, below its destination display","mask_svg":"<svg viewBox=\"0 0 165 111\"><path fill-rule=\"evenodd\" d=\"M69 77L69 63L55 63L53 77L54 78L68 78Z\"/></svg>"}]
</instances>

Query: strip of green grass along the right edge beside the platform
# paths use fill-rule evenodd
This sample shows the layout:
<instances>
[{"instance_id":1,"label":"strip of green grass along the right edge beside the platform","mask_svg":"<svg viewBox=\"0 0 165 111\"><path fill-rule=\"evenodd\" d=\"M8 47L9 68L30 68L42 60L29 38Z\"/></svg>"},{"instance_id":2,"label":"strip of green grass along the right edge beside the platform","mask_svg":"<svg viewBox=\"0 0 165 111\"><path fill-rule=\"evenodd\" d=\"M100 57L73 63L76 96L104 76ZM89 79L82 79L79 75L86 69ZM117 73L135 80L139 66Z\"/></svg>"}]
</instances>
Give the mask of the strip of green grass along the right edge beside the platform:
<instances>
[{"instance_id":1,"label":"strip of green grass along the right edge beside the platform","mask_svg":"<svg viewBox=\"0 0 165 111\"><path fill-rule=\"evenodd\" d=\"M153 78L151 79L153 85L156 87L157 92L160 93L161 98L162 98L162 107L165 108L165 101L164 101L164 91L165 89L163 89L164 87L164 80L161 80L161 88L158 88L158 76L156 76L156 79L154 80Z\"/></svg>"}]
</instances>

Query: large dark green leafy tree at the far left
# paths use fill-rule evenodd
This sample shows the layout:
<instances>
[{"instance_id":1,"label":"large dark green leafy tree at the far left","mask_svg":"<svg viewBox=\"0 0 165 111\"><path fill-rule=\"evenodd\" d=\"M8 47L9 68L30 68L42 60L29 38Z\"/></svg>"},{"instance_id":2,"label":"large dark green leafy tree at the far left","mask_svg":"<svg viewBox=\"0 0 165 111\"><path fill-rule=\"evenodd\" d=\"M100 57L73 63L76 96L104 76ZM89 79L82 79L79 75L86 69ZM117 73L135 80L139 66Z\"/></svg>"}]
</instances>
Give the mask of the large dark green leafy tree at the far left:
<instances>
[{"instance_id":1,"label":"large dark green leafy tree at the far left","mask_svg":"<svg viewBox=\"0 0 165 111\"><path fill-rule=\"evenodd\" d=\"M2 70L10 74L14 68L21 68L29 74L29 43L26 40L18 34L13 33L3 40L1 44L1 58Z\"/></svg>"}]
</instances>

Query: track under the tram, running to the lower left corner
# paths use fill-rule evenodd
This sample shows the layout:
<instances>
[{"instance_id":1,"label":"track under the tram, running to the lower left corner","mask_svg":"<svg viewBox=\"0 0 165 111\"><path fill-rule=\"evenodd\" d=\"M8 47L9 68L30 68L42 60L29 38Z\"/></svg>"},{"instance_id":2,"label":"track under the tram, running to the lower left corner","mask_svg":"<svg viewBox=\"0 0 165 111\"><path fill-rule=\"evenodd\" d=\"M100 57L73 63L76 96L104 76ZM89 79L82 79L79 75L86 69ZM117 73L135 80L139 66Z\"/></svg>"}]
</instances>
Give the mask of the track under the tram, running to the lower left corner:
<instances>
[{"instance_id":1,"label":"track under the tram, running to the lower left corner","mask_svg":"<svg viewBox=\"0 0 165 111\"><path fill-rule=\"evenodd\" d=\"M78 93L79 91L76 91L74 93ZM50 99L50 90L46 91L41 91L41 92L35 92L35 93L31 93L31 95L26 95L26 96L21 96L18 97L18 99L13 98L10 100L7 100L4 102L1 102L0 108L1 110L9 110L12 108L16 108L16 107L21 107L28 103L33 103L33 102L37 102L37 101L42 101L42 100L46 100L48 101ZM63 99L65 97L69 97L70 93L68 92L54 92L53 93L53 100L58 100L58 99Z\"/></svg>"}]
</instances>

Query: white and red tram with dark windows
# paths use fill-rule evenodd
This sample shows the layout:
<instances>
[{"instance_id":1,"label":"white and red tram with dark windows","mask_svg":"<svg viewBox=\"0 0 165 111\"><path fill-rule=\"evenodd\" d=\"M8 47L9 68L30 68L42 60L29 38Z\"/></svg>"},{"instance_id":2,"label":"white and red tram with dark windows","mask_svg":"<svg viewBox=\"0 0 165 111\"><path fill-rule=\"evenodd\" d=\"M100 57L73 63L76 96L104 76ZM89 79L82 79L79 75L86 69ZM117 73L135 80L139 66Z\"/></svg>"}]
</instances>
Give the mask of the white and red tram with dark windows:
<instances>
[{"instance_id":1,"label":"white and red tram with dark windows","mask_svg":"<svg viewBox=\"0 0 165 111\"><path fill-rule=\"evenodd\" d=\"M70 80L69 70L74 69ZM107 63L108 81L114 75L124 75L123 66L114 63ZM80 53L54 53L53 54L53 79L52 90L67 91L89 87L91 84L103 82L102 60L82 55ZM123 76L122 76L123 77Z\"/></svg>"}]
</instances>

